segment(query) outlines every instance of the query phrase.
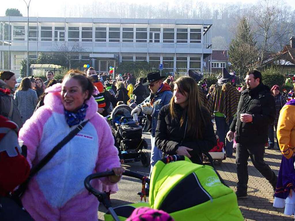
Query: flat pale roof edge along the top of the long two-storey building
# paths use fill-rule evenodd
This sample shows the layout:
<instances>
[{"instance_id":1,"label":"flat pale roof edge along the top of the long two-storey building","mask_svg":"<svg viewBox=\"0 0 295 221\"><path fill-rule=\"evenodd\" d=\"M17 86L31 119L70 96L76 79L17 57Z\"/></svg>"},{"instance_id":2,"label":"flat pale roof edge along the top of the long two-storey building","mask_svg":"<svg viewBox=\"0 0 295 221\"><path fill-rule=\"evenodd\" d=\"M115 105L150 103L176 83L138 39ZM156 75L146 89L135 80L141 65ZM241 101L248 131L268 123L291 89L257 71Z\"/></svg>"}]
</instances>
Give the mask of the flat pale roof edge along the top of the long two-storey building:
<instances>
[{"instance_id":1,"label":"flat pale roof edge along the top of the long two-storey building","mask_svg":"<svg viewBox=\"0 0 295 221\"><path fill-rule=\"evenodd\" d=\"M27 22L27 17L0 16L2 22ZM213 19L138 19L138 18L62 18L29 17L29 22L73 22L73 23L114 23L114 24L176 24L212 25Z\"/></svg>"}]
</instances>

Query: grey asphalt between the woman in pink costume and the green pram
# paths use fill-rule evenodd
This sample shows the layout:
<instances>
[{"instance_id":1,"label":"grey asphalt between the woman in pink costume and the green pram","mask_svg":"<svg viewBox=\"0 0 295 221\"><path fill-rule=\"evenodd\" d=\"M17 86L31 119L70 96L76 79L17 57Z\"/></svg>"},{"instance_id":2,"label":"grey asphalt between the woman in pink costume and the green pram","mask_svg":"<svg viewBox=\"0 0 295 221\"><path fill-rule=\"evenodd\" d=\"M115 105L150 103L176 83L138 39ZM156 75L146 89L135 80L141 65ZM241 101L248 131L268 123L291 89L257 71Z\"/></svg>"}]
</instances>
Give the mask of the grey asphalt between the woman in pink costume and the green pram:
<instances>
[{"instance_id":1,"label":"grey asphalt between the woman in pink costume and the green pram","mask_svg":"<svg viewBox=\"0 0 295 221\"><path fill-rule=\"evenodd\" d=\"M148 142L148 149L144 150L149 152L151 150L150 134L143 133L143 138ZM122 165L126 170L132 170L134 172L142 173L142 175L148 176L150 173L150 167L143 167L141 162L134 162ZM140 202L140 196L137 192L141 191L141 181L135 178L123 176L118 183L119 191L115 194L111 194L111 202L113 207L122 206L125 204ZM98 218L104 220L105 207L100 204Z\"/></svg>"}]
</instances>

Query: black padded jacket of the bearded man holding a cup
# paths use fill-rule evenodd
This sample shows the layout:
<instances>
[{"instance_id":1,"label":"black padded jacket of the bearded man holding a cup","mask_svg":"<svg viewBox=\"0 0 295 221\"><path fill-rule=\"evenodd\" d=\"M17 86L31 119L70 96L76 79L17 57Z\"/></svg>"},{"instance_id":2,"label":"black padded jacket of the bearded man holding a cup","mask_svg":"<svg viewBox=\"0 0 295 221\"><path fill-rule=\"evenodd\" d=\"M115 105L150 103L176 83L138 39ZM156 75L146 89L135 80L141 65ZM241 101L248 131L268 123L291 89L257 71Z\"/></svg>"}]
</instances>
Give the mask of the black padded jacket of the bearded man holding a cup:
<instances>
[{"instance_id":1,"label":"black padded jacket of the bearded man holding a cup","mask_svg":"<svg viewBox=\"0 0 295 221\"><path fill-rule=\"evenodd\" d=\"M240 114L252 114L253 121L240 121ZM244 90L239 101L237 115L234 117L230 130L235 131L235 140L244 145L266 144L268 126L274 121L276 107L270 88L260 84L253 90Z\"/></svg>"}]
</instances>

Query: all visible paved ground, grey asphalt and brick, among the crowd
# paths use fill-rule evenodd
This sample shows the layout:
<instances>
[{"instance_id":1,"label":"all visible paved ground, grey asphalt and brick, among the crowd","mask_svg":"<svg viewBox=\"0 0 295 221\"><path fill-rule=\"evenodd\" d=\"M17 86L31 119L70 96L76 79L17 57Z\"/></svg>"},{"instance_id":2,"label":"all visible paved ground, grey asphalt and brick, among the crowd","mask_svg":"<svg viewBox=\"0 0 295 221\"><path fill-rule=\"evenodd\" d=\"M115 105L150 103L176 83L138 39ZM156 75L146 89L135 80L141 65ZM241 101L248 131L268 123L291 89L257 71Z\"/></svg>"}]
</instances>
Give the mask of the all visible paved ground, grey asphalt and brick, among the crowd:
<instances>
[{"instance_id":1,"label":"all visible paved ground, grey asphalt and brick, among the crowd","mask_svg":"<svg viewBox=\"0 0 295 221\"><path fill-rule=\"evenodd\" d=\"M147 134L144 137L149 143L150 152L150 139ZM234 154L235 155L235 154ZM271 166L271 169L278 174L281 162L281 153L276 150L266 150L265 161ZM255 169L251 160L249 159L248 172L248 199L239 200L239 206L245 220L294 220L294 216L289 217L283 214L283 209L272 207L273 204L273 191L268 181L261 176L258 170ZM142 174L149 174L150 169L144 168L140 162L130 163L123 165L127 170L140 172ZM235 166L235 158L228 158L222 162L221 165L216 165L221 177L234 191L236 190L237 173ZM111 195L112 205L119 206L140 201L140 196L137 192L141 190L141 183L139 180L123 177L119 183L119 192ZM103 214L106 211L101 205L99 207L99 219L104 220Z\"/></svg>"}]
</instances>

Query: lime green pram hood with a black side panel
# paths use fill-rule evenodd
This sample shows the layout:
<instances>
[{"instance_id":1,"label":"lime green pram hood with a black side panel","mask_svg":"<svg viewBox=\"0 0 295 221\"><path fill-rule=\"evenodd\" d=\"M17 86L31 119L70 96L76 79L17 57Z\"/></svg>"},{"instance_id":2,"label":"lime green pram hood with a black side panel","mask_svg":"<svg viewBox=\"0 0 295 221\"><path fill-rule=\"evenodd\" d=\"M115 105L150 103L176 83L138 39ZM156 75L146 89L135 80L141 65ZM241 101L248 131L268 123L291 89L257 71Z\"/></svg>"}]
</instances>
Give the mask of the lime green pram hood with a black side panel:
<instances>
[{"instance_id":1,"label":"lime green pram hood with a black side panel","mask_svg":"<svg viewBox=\"0 0 295 221\"><path fill-rule=\"evenodd\" d=\"M188 158L168 164L159 160L149 194L150 207L168 212L175 220L244 220L235 193L216 171Z\"/></svg>"}]
</instances>

